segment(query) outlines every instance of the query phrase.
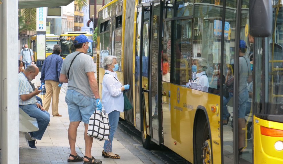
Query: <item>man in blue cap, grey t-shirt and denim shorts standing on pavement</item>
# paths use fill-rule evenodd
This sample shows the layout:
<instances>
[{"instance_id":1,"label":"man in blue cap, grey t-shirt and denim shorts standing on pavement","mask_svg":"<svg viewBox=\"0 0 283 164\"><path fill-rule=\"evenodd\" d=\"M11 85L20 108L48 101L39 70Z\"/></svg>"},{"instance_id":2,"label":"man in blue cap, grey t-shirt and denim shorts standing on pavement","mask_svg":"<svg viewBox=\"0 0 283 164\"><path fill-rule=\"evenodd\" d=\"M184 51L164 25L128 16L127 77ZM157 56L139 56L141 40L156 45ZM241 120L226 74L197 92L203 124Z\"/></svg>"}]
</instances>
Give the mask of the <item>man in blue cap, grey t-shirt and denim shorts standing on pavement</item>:
<instances>
[{"instance_id":1,"label":"man in blue cap, grey t-shirt and denim shorts standing on pavement","mask_svg":"<svg viewBox=\"0 0 283 164\"><path fill-rule=\"evenodd\" d=\"M73 41L76 51L69 54L63 61L60 82L68 83L65 101L68 105L70 125L68 138L71 153L68 162L84 161L84 163L100 164L91 156L93 138L87 135L89 118L94 110L101 110L97 81L94 76L95 67L91 56L87 55L89 43L85 35L79 35ZM80 122L85 125L85 156L80 157L75 150L77 127Z\"/></svg>"}]
</instances>

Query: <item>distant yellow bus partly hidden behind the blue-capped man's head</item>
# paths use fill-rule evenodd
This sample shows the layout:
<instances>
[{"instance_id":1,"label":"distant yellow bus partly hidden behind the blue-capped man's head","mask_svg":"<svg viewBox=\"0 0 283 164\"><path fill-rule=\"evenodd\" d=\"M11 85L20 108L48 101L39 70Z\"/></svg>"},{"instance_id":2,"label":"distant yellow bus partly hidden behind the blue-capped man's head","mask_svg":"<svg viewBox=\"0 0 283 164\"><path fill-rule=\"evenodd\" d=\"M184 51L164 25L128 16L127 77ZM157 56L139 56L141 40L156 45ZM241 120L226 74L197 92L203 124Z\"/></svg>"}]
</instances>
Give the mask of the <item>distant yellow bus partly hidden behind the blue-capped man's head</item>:
<instances>
[{"instance_id":1,"label":"distant yellow bus partly hidden behind the blue-capped man's head","mask_svg":"<svg viewBox=\"0 0 283 164\"><path fill-rule=\"evenodd\" d=\"M73 45L73 41L75 37L78 35L85 35L88 39L92 40L92 35L87 31L73 31L66 32L65 34L60 35L60 45L61 45L61 53L60 56L65 59L68 54L75 52L75 47ZM87 50L87 55L93 58L93 44L89 43L89 49Z\"/></svg>"}]
</instances>

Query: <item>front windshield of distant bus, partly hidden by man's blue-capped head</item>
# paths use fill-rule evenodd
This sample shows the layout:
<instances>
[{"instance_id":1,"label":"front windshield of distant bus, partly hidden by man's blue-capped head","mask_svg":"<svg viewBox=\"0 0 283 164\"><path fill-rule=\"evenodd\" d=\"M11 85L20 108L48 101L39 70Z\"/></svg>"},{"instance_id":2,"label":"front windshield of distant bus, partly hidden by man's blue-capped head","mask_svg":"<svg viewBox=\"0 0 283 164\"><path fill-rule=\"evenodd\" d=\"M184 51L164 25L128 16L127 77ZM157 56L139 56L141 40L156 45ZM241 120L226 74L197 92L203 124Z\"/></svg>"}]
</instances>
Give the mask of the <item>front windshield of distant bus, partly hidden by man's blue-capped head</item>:
<instances>
[{"instance_id":1,"label":"front windshield of distant bus, partly hidden by man's blue-capped head","mask_svg":"<svg viewBox=\"0 0 283 164\"><path fill-rule=\"evenodd\" d=\"M68 54L71 54L76 51L73 41L76 36L62 36L61 37L61 53L60 56L65 58ZM91 36L87 36L88 39L91 39ZM92 53L92 44L88 43L89 48L87 49L87 55L93 56Z\"/></svg>"}]
</instances>

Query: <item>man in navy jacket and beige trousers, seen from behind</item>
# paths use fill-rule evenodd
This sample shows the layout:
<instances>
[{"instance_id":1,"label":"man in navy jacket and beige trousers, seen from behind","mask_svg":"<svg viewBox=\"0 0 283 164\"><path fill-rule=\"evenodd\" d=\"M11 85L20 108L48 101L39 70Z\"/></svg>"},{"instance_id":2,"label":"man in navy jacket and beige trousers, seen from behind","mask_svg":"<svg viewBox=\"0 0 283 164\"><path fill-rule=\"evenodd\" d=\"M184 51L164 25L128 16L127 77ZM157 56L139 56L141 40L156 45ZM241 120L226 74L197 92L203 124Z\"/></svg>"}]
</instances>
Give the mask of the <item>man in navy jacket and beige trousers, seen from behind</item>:
<instances>
[{"instance_id":1,"label":"man in navy jacket and beige trousers, seen from behind","mask_svg":"<svg viewBox=\"0 0 283 164\"><path fill-rule=\"evenodd\" d=\"M46 94L43 99L43 106L46 111L49 110L52 97L52 115L53 117L62 117L58 113L59 94L62 83L59 82L60 71L63 59L60 57L61 46L55 44L51 55L47 56L41 68L41 83L45 84Z\"/></svg>"}]
</instances>

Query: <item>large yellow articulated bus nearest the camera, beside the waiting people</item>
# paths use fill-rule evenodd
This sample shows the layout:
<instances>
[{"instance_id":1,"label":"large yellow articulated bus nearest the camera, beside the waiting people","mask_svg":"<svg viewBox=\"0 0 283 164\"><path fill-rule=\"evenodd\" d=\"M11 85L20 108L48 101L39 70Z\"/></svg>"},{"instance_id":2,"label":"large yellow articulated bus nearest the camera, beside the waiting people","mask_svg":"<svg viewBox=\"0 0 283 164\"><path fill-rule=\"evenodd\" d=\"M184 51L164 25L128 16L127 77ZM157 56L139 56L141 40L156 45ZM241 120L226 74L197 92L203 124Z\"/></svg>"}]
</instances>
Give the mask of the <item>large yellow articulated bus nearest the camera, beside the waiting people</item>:
<instances>
[{"instance_id":1,"label":"large yellow articulated bus nearest the camera, beside the waiting people","mask_svg":"<svg viewBox=\"0 0 283 164\"><path fill-rule=\"evenodd\" d=\"M113 0L99 10L100 93L101 62L115 55L133 104L120 117L145 148L197 164L283 163L282 13L280 0Z\"/></svg>"}]
</instances>

